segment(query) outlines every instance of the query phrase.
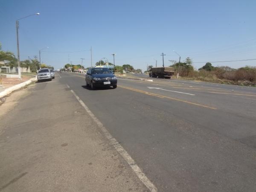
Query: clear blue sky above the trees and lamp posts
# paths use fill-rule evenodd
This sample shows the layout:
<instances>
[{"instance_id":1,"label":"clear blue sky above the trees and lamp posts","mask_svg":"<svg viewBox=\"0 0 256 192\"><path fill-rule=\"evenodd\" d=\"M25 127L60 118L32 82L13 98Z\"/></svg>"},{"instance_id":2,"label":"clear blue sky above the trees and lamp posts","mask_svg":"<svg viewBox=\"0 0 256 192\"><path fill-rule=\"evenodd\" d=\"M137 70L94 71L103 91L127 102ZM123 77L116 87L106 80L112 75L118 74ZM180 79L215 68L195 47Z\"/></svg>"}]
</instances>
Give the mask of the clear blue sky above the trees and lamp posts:
<instances>
[{"instance_id":1,"label":"clear blue sky above the trees and lamp posts","mask_svg":"<svg viewBox=\"0 0 256 192\"><path fill-rule=\"evenodd\" d=\"M90 66L101 58L116 65L147 64L191 57L195 68L206 61L256 58L255 0L0 0L0 42L17 53L15 20L20 20L20 58L39 55L55 69L67 64ZM69 53L68 53L69 52ZM256 61L212 63L238 68Z\"/></svg>"}]
</instances>

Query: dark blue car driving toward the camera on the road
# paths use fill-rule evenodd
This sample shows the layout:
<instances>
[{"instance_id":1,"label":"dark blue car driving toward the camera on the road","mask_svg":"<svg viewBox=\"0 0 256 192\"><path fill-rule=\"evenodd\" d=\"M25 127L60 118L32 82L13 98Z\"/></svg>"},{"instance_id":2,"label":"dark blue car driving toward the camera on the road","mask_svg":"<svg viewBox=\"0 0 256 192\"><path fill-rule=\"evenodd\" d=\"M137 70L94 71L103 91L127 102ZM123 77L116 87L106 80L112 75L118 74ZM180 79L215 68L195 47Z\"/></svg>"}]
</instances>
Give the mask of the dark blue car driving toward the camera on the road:
<instances>
[{"instance_id":1,"label":"dark blue car driving toward the camera on the road","mask_svg":"<svg viewBox=\"0 0 256 192\"><path fill-rule=\"evenodd\" d=\"M85 85L95 87L117 87L116 76L108 68L90 68L85 75Z\"/></svg>"}]
</instances>

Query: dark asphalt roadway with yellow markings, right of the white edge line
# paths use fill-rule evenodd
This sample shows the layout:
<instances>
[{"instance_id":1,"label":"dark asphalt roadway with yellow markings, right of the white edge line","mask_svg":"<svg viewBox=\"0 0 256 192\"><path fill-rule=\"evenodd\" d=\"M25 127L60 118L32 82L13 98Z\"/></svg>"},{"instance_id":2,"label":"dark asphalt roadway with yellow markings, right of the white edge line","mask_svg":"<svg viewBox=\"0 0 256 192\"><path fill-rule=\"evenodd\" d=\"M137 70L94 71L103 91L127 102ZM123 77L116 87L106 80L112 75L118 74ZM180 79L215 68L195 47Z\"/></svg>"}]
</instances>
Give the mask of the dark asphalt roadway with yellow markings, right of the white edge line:
<instances>
[{"instance_id":1,"label":"dark asphalt roadway with yellow markings, right of the white edge line","mask_svg":"<svg viewBox=\"0 0 256 192\"><path fill-rule=\"evenodd\" d=\"M254 87L118 79L91 90L60 76L159 191L255 191Z\"/></svg>"}]
</instances>

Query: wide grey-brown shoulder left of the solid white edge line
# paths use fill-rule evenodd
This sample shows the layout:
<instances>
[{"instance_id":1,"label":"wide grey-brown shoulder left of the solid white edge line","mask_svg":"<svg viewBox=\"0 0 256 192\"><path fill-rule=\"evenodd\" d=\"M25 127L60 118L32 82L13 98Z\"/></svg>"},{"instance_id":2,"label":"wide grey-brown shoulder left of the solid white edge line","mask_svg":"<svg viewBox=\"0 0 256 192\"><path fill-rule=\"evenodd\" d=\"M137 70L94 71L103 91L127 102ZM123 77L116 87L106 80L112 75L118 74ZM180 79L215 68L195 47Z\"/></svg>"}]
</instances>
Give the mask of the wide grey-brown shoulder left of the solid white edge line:
<instances>
[{"instance_id":1,"label":"wide grey-brown shoulder left of the solid white edge line","mask_svg":"<svg viewBox=\"0 0 256 192\"><path fill-rule=\"evenodd\" d=\"M0 106L0 191L148 192L59 80Z\"/></svg>"}]
</instances>

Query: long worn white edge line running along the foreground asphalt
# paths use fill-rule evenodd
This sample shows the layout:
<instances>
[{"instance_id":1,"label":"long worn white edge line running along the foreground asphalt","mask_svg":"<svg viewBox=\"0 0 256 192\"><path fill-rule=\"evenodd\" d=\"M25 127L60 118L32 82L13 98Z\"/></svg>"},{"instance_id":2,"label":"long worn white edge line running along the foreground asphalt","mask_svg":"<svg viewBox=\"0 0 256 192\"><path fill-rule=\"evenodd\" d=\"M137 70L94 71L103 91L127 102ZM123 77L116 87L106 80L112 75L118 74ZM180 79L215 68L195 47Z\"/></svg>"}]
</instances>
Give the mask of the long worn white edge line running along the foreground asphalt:
<instances>
[{"instance_id":1,"label":"long worn white edge line running along the foreground asphalt","mask_svg":"<svg viewBox=\"0 0 256 192\"><path fill-rule=\"evenodd\" d=\"M68 85L67 85L68 86ZM116 139L108 132L108 130L104 127L104 125L99 121L99 119L90 111L90 109L84 104L84 102L76 95L73 90L70 90L76 99L80 102L80 104L84 107L87 113L91 116L94 122L99 126L102 130L104 136L110 141L111 145L116 149L116 151L125 159L125 161L129 164L131 169L136 173L139 179L144 183L144 185L151 191L157 192L157 188L153 183L145 176L140 167L135 163L135 161L131 158L127 151L116 141Z\"/></svg>"}]
</instances>

